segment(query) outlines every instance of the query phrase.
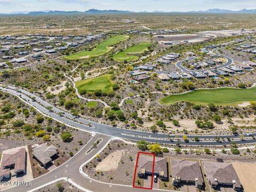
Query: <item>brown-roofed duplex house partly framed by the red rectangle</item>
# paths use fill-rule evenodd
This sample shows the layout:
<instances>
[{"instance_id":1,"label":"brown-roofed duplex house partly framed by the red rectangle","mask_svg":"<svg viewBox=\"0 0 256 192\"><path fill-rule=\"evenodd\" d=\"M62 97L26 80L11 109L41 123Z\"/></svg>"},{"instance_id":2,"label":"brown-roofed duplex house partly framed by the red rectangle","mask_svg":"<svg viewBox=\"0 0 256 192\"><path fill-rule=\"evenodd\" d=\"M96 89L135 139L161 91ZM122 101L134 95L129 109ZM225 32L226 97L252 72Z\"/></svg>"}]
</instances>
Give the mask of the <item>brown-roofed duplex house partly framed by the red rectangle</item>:
<instances>
[{"instance_id":1,"label":"brown-roofed duplex house partly framed by the red rectangle","mask_svg":"<svg viewBox=\"0 0 256 192\"><path fill-rule=\"evenodd\" d=\"M141 155L138 162L138 177L152 175L153 159L149 155ZM166 158L155 157L154 174L161 180L168 178Z\"/></svg>"}]
</instances>

